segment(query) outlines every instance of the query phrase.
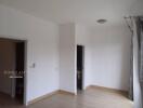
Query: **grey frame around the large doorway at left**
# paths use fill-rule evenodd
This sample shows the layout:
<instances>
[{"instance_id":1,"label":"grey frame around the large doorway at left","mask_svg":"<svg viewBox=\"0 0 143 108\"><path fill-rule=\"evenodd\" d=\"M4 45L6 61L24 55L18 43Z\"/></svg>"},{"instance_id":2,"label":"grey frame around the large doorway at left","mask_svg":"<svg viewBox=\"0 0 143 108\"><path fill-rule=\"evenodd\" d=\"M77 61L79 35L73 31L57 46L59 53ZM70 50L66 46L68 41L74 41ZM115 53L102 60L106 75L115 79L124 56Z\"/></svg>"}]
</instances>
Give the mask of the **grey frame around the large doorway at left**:
<instances>
[{"instance_id":1,"label":"grey frame around the large doorway at left","mask_svg":"<svg viewBox=\"0 0 143 108\"><path fill-rule=\"evenodd\" d=\"M23 105L27 106L27 44L28 40L23 39L23 38L17 38L17 37L12 37L12 36L0 36L1 39L9 39L9 40L15 40L15 41L22 41L24 42L24 98L23 98ZM14 81L15 82L15 81Z\"/></svg>"}]
</instances>

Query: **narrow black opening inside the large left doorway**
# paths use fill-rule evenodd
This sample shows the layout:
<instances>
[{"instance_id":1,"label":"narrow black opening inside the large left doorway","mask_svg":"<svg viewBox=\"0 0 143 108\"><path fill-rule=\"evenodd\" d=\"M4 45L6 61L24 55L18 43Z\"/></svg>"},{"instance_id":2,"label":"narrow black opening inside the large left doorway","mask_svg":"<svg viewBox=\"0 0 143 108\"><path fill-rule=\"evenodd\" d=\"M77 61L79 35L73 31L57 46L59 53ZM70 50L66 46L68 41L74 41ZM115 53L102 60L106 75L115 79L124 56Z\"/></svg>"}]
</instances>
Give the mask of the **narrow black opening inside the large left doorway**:
<instances>
[{"instance_id":1,"label":"narrow black opening inside the large left doorway","mask_svg":"<svg viewBox=\"0 0 143 108\"><path fill-rule=\"evenodd\" d=\"M15 79L15 97L24 102L24 65L25 65L25 43L24 42L16 42L16 77L20 77Z\"/></svg>"}]
</instances>

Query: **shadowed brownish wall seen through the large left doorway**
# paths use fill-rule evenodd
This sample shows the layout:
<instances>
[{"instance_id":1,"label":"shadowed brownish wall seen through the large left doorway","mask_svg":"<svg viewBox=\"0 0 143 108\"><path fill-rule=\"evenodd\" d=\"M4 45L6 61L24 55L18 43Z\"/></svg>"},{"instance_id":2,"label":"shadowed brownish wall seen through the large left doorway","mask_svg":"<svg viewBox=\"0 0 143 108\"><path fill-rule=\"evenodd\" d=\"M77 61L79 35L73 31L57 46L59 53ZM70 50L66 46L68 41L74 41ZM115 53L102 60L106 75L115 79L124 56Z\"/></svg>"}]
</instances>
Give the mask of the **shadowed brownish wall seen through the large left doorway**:
<instances>
[{"instance_id":1,"label":"shadowed brownish wall seen through the large left doorway","mask_svg":"<svg viewBox=\"0 0 143 108\"><path fill-rule=\"evenodd\" d=\"M0 39L0 92L12 95L10 71L15 70L15 43Z\"/></svg>"}]
</instances>

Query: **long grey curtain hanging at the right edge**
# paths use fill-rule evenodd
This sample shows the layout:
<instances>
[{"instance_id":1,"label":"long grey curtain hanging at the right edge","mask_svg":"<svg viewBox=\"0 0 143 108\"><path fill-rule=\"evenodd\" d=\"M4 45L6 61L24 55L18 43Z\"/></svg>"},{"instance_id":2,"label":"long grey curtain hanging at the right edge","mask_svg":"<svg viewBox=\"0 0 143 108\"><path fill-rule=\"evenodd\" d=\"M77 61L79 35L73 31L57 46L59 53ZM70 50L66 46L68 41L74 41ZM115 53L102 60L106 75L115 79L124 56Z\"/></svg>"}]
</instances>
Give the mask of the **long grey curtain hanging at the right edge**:
<instances>
[{"instance_id":1,"label":"long grey curtain hanging at the right edge","mask_svg":"<svg viewBox=\"0 0 143 108\"><path fill-rule=\"evenodd\" d=\"M143 84L143 19L142 17L132 17L133 36L132 36L132 60L130 83L133 80L133 95L130 84L130 98L134 100L134 108L142 108L142 84ZM133 78L133 79L132 79Z\"/></svg>"}]
</instances>

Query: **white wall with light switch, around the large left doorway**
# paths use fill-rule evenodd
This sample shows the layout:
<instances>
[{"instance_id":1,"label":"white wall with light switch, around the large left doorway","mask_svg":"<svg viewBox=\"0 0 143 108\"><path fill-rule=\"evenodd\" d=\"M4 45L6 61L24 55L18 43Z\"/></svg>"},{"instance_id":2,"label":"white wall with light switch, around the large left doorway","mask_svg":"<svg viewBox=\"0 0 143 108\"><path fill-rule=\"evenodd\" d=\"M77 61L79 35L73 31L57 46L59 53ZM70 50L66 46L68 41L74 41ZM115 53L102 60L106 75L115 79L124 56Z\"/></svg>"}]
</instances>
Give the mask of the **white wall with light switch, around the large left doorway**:
<instances>
[{"instance_id":1,"label":"white wall with light switch, around the large left doorway","mask_svg":"<svg viewBox=\"0 0 143 108\"><path fill-rule=\"evenodd\" d=\"M28 41L27 102L58 89L57 25L0 5L0 37Z\"/></svg>"}]
</instances>

